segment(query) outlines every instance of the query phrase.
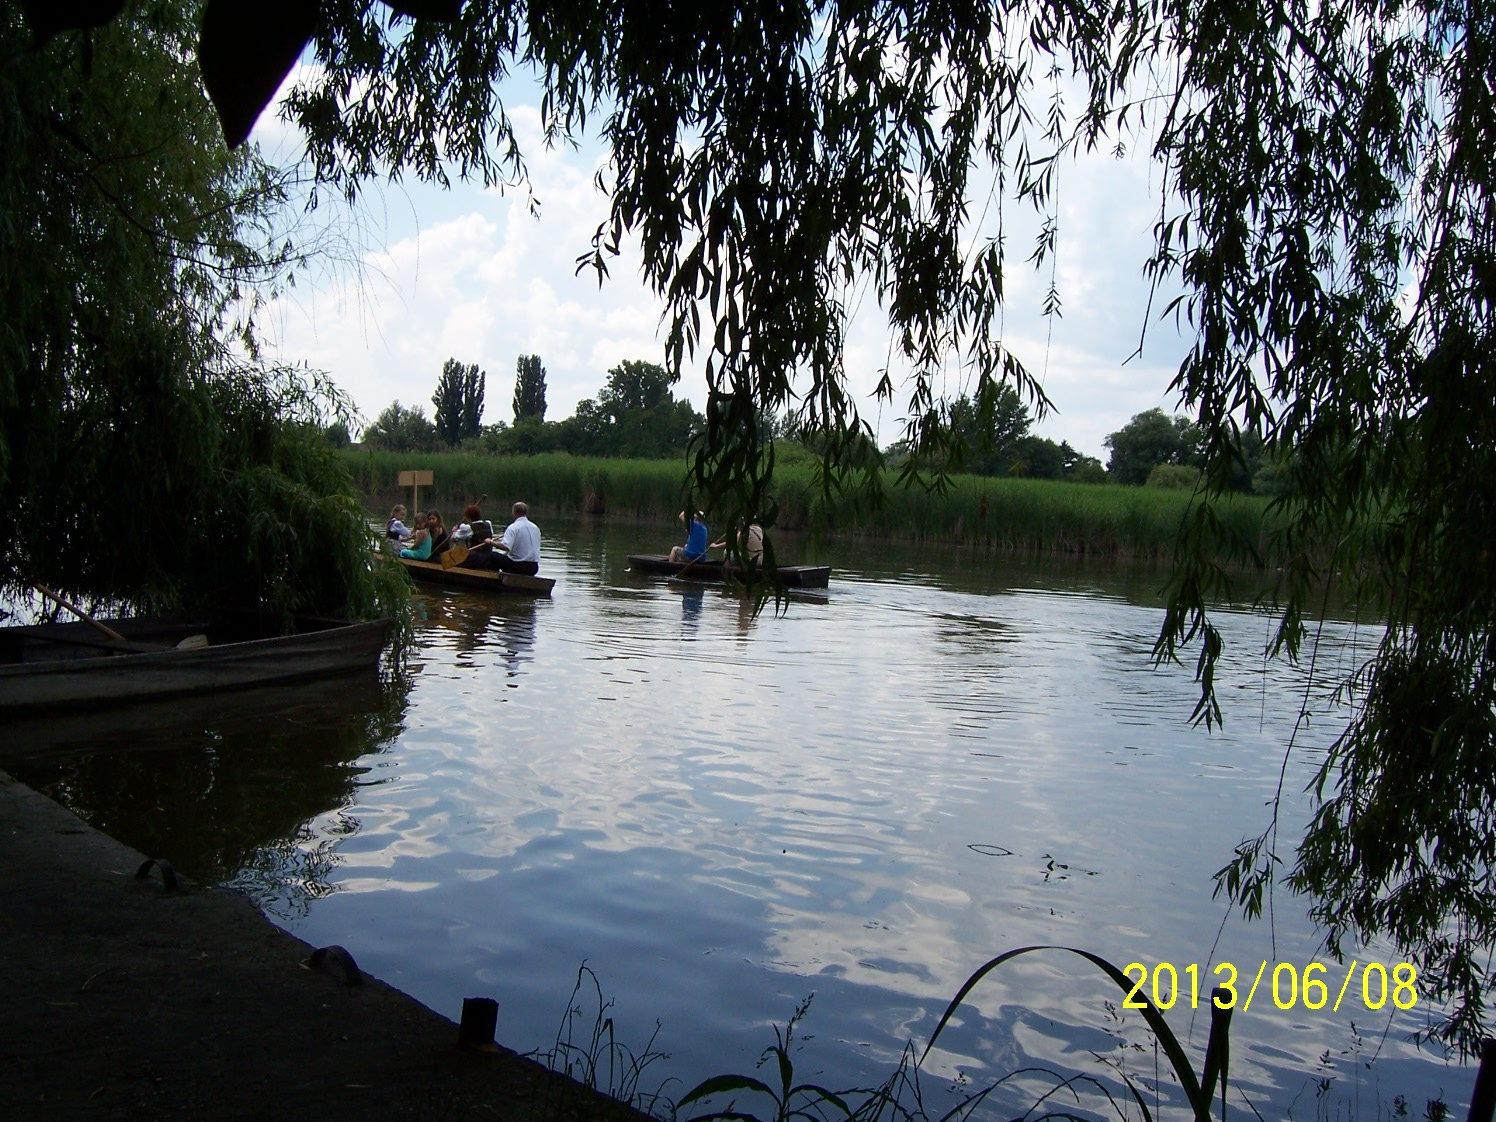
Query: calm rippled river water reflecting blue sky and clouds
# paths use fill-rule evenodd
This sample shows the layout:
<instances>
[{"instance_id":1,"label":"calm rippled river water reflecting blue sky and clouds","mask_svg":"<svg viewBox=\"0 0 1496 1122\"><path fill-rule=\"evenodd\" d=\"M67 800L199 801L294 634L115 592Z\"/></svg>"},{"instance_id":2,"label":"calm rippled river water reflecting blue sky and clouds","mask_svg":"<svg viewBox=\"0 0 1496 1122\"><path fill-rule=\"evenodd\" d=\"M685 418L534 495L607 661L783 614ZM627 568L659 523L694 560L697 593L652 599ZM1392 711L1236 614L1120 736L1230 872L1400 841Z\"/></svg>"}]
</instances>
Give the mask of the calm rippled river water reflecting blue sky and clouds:
<instances>
[{"instance_id":1,"label":"calm rippled river water reflecting blue sky and clouds","mask_svg":"<svg viewBox=\"0 0 1496 1122\"><path fill-rule=\"evenodd\" d=\"M669 1053L642 1083L672 1098L752 1071L811 995L796 1076L880 1082L989 957L1064 944L1173 963L1168 1017L1197 1070L1215 965L1236 963L1245 996L1266 960L1233 1025L1233 1110L1387 1118L1403 1095L1420 1116L1442 1095L1463 1116L1474 1073L1406 1041L1424 1008L1367 1010L1360 972L1337 1013L1275 1007L1275 963L1315 960L1302 901L1245 923L1212 899L1267 824L1308 699L1284 782L1285 839L1302 829L1343 723L1328 684L1370 630L1325 625L1321 684L1264 663L1266 618L1222 616L1227 726L1207 733L1189 669L1149 658L1156 571L791 539L781 555L832 564L830 589L755 616L627 570L669 528L542 528L555 595L423 594L399 687L177 706L144 721L150 749L117 718L60 732L88 751L0 766L447 1016L497 998L518 1050L554 1046L586 963L618 1040ZM1342 978L1330 963L1331 1001ZM972 992L925 1077L969 1091L1043 1064L1152 1085L1164 1061L1121 1005L1079 957L1019 959Z\"/></svg>"}]
</instances>

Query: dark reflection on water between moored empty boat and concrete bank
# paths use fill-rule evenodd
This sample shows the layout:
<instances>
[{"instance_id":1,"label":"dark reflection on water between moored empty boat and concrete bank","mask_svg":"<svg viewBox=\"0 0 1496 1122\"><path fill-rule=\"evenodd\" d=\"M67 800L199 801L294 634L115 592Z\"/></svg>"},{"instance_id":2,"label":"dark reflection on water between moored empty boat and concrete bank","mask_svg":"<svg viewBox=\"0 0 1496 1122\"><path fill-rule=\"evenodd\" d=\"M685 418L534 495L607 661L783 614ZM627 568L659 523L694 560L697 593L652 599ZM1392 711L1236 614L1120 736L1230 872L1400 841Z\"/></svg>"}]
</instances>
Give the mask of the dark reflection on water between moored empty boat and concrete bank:
<instances>
[{"instance_id":1,"label":"dark reflection on water between moored empty boat and concrete bank","mask_svg":"<svg viewBox=\"0 0 1496 1122\"><path fill-rule=\"evenodd\" d=\"M90 824L203 883L281 911L334 865L307 823L341 815L402 727L408 682L374 673L18 721L0 767Z\"/></svg>"}]
</instances>

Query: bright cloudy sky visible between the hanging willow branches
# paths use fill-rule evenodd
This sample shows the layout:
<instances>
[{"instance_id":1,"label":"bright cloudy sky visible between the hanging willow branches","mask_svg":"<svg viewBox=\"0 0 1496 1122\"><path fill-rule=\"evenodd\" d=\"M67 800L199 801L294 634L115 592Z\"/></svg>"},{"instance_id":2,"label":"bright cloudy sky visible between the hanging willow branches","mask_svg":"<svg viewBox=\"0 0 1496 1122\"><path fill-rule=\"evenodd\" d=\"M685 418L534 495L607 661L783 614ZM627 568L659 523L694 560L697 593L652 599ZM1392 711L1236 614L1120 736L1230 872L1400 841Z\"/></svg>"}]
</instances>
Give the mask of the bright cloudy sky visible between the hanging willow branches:
<instances>
[{"instance_id":1,"label":"bright cloudy sky visible between the hanging willow branches","mask_svg":"<svg viewBox=\"0 0 1496 1122\"><path fill-rule=\"evenodd\" d=\"M485 422L512 420L519 355L545 362L549 420L595 396L618 362L663 362L661 305L640 281L637 256L625 247L601 287L589 271L576 274L576 257L607 212L592 181L606 156L598 145L548 151L539 100L539 87L524 81L504 91L539 217L524 190L473 184L374 187L356 212L325 202L304 220L301 236L322 226L316 236L335 251L263 310L268 355L326 371L365 420L392 401L432 416L431 395L449 358L486 371ZM274 114L253 139L274 162L296 159L295 135ZM1047 272L1023 263L1037 227L1016 205L1004 214L1010 304L1002 332L1056 407L1035 431L1103 462L1109 432L1134 413L1177 404L1168 383L1186 344L1171 322L1159 322L1164 298L1155 296L1149 323L1141 272L1159 209L1156 175L1146 160L1110 154L1067 163L1058 191L1059 319L1046 320L1040 310ZM902 411L869 396L889 361L886 323L871 295L851 293L850 305L859 313L848 332L848 377L887 444L901 434ZM1143 353L1129 359L1144 325ZM953 364L944 390L956 396L966 387ZM702 408L705 378L688 374L676 393Z\"/></svg>"}]
</instances>

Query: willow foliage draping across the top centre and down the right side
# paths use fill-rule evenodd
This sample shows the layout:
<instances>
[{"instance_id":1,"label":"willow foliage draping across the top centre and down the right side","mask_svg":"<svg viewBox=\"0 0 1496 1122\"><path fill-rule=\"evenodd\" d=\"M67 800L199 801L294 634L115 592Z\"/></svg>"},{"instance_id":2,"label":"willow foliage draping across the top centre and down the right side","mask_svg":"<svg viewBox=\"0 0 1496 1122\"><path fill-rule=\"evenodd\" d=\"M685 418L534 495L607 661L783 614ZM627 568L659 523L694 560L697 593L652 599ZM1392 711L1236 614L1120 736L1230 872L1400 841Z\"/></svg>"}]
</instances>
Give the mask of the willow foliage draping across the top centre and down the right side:
<instances>
[{"instance_id":1,"label":"willow foliage draping across the top centre and down the right side","mask_svg":"<svg viewBox=\"0 0 1496 1122\"><path fill-rule=\"evenodd\" d=\"M1182 286L1164 311L1194 338L1174 387L1206 467L1156 654L1198 649L1198 715L1218 720L1210 604L1257 543L1231 540L1216 504L1255 431L1296 465L1276 649L1299 652L1337 579L1387 622L1321 809L1284 854L1291 883L1331 945L1396 939L1421 990L1456 999L1450 1031L1477 1037L1496 942L1487 6L470 0L413 24L367 0L325 10L319 66L286 111L323 183L350 194L375 174L522 180L495 93L515 61L542 76L548 141L603 114L612 211L583 265L603 274L637 239L670 368L706 370L693 486L739 513L767 509L755 420L791 401L827 434L829 477L878 486L842 367L848 293L887 314L910 373L887 371L880 395L904 398L917 462L956 447L935 405L947 368L974 396L1005 384L1041 411L1002 332L1007 242L977 229L971 200L1037 206L1043 266L1056 157L1149 151L1165 190L1146 269ZM1248 908L1282 859L1275 836L1224 871Z\"/></svg>"}]
</instances>

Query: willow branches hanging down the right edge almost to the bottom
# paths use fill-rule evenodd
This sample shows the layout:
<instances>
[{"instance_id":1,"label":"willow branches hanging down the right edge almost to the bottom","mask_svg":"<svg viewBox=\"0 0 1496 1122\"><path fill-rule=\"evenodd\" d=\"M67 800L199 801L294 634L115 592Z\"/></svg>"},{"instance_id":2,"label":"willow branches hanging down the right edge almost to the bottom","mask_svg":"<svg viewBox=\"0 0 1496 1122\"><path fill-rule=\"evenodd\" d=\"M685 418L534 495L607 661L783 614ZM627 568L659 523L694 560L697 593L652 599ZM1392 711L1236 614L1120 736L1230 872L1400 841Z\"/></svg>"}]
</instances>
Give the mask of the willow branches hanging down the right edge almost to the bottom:
<instances>
[{"instance_id":1,"label":"willow branches hanging down the right edge almost to the bottom","mask_svg":"<svg viewBox=\"0 0 1496 1122\"><path fill-rule=\"evenodd\" d=\"M1474 1046L1496 944L1496 9L1180 6L1186 100L1158 150L1189 203L1159 226L1195 346L1177 386L1209 437L1159 640L1195 634L1210 691L1215 525L1245 426L1293 455L1278 648L1299 655L1340 582L1384 612L1345 682L1290 883L1339 950L1390 936L1439 1031ZM1261 905L1273 832L1222 884Z\"/></svg>"}]
</instances>

